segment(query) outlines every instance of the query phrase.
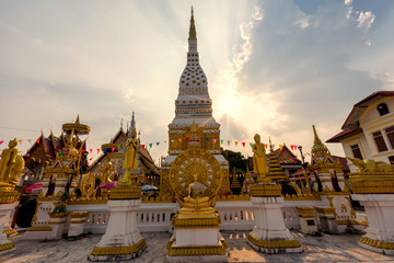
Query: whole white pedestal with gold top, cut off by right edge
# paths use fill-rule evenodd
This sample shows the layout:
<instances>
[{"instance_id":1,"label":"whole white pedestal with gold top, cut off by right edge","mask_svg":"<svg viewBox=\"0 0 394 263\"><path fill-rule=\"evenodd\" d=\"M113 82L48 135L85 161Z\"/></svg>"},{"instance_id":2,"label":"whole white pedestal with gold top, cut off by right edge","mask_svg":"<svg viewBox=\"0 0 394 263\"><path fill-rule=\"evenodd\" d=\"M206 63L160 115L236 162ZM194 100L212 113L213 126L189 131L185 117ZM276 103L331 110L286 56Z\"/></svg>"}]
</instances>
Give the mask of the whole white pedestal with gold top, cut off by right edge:
<instances>
[{"instance_id":1,"label":"whole white pedestal with gold top, cut off by right edge","mask_svg":"<svg viewBox=\"0 0 394 263\"><path fill-rule=\"evenodd\" d=\"M378 171L368 171L367 168L364 172L350 173L349 183L355 193L351 197L364 206L368 217L367 235L358 244L394 255L394 167L383 164L375 167Z\"/></svg>"}]
</instances>

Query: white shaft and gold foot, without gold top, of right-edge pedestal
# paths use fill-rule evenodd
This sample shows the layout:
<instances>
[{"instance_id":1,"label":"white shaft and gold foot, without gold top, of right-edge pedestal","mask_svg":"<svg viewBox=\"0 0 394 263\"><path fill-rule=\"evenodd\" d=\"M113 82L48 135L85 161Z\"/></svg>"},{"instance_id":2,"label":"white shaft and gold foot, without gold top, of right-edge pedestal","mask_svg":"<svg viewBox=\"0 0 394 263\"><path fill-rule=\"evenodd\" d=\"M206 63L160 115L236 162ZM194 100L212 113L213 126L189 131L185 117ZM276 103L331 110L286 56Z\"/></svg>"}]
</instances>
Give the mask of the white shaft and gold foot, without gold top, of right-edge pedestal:
<instances>
[{"instance_id":1,"label":"white shaft and gold foot, without gold top, of right-edge pedestal","mask_svg":"<svg viewBox=\"0 0 394 263\"><path fill-rule=\"evenodd\" d=\"M354 194L366 208L367 235L358 242L360 247L394 255L394 194Z\"/></svg>"}]
</instances>

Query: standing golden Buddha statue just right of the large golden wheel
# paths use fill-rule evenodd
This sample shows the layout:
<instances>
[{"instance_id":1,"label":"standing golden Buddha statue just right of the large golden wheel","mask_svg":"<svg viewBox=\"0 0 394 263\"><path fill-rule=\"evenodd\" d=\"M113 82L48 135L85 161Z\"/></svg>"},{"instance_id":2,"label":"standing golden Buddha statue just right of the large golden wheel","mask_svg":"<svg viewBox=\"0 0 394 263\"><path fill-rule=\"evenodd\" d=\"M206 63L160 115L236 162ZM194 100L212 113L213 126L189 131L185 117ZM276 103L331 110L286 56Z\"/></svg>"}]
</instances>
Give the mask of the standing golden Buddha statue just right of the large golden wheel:
<instances>
[{"instance_id":1,"label":"standing golden Buddha statue just right of the large golden wheel","mask_svg":"<svg viewBox=\"0 0 394 263\"><path fill-rule=\"evenodd\" d=\"M254 136L255 144L252 146L254 173L257 174L258 182L266 181L267 157L265 146L260 142L260 136Z\"/></svg>"}]
</instances>

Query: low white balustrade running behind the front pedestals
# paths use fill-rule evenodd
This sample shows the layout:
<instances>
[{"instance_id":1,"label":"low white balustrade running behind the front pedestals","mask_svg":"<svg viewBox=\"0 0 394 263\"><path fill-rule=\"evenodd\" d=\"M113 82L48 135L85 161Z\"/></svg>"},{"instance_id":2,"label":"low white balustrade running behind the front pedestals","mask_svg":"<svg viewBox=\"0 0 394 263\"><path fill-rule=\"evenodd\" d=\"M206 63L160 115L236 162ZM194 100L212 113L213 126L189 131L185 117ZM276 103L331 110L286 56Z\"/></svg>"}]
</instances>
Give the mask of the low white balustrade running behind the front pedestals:
<instances>
[{"instance_id":1,"label":"low white balustrade running behind the front pedestals","mask_svg":"<svg viewBox=\"0 0 394 263\"><path fill-rule=\"evenodd\" d=\"M286 227L300 229L300 221L296 206L316 206L318 201L304 199L285 202L282 216ZM227 196L217 202L215 209L220 214L220 230L252 230L254 228L253 204L250 196ZM106 204L78 204L68 205L69 211L89 211L84 232L104 233L109 211ZM137 224L140 232L172 232L172 217L179 210L177 203L143 202L137 214ZM317 218L318 220L318 218ZM318 222L318 221L317 221Z\"/></svg>"}]
</instances>

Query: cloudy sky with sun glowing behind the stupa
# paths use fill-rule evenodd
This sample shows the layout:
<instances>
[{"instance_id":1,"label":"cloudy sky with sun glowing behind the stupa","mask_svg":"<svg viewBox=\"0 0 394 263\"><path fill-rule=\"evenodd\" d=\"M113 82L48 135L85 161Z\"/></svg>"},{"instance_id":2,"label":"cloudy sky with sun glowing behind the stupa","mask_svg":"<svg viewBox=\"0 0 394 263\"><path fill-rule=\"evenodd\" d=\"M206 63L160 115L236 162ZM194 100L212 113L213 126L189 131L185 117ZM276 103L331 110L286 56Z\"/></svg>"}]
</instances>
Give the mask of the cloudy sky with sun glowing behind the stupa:
<instances>
[{"instance_id":1,"label":"cloudy sky with sun glowing behind the stupa","mask_svg":"<svg viewBox=\"0 0 394 263\"><path fill-rule=\"evenodd\" d=\"M78 114L96 149L135 112L158 163L186 65L190 5L225 149L252 156L257 133L309 152L313 124L325 141L354 104L394 90L391 0L3 0L0 149L16 137L24 153L28 139L59 136ZM326 145L344 156L340 144Z\"/></svg>"}]
</instances>

